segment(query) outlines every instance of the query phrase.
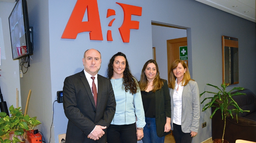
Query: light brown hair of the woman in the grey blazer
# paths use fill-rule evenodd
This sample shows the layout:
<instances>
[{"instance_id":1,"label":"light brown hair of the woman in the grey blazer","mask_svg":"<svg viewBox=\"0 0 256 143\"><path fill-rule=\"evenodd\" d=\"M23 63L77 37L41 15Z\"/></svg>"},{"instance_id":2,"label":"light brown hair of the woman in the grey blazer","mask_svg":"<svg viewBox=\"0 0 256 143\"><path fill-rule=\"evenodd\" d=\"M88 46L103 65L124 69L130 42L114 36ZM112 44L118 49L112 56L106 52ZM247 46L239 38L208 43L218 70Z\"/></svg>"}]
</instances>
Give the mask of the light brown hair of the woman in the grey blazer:
<instances>
[{"instance_id":1,"label":"light brown hair of the woman in the grey blazer","mask_svg":"<svg viewBox=\"0 0 256 143\"><path fill-rule=\"evenodd\" d=\"M190 78L190 74L189 74L187 64L184 61L177 59L171 64L171 68L170 68L170 71L168 73L168 75L169 75L169 79L168 79L169 88L174 89L174 87L175 87L176 76L173 73L173 69L177 68L179 63L182 64L184 69L187 68L186 72L184 73L183 79L181 81L181 83L183 83L183 86L187 85L189 80L193 80L193 79Z\"/></svg>"}]
</instances>

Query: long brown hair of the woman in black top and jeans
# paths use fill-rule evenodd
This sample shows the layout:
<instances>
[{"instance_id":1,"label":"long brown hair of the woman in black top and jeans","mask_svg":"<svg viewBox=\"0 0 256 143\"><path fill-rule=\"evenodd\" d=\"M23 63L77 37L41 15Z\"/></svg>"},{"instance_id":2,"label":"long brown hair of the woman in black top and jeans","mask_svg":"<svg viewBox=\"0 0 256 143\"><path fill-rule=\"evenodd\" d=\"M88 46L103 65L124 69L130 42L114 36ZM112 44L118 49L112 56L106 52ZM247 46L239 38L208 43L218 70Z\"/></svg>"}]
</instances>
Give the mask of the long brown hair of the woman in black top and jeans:
<instances>
[{"instance_id":1,"label":"long brown hair of the woman in black top and jeans","mask_svg":"<svg viewBox=\"0 0 256 143\"><path fill-rule=\"evenodd\" d=\"M160 90L162 88L162 86L164 85L164 82L160 78L160 75L159 75L158 65L157 65L155 60L151 59L151 60L147 61L144 64L144 66L143 66L143 68L141 70L140 81L139 81L140 91L147 90L149 81L148 81L147 76L145 74L145 70L146 70L148 64L150 64L150 63L153 63L153 64L156 65L156 77L153 80L152 92L156 92L157 90Z\"/></svg>"}]
</instances>

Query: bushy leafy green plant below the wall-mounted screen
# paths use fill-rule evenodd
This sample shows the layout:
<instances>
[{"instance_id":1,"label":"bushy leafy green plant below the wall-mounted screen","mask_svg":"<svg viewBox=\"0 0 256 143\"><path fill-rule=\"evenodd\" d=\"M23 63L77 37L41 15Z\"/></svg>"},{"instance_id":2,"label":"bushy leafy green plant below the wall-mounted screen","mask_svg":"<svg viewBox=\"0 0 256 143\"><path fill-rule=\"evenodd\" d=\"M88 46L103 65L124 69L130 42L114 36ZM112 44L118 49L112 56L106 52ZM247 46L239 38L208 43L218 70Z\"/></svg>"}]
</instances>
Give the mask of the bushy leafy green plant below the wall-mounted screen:
<instances>
[{"instance_id":1,"label":"bushy leafy green plant below the wall-mounted screen","mask_svg":"<svg viewBox=\"0 0 256 143\"><path fill-rule=\"evenodd\" d=\"M26 131L32 130L41 122L36 117L30 118L29 115L22 114L21 107L15 108L13 105L9 108L11 116L6 115L5 112L0 112L0 142L1 143L17 143L25 142L23 134ZM13 137L10 140L11 134ZM20 136L21 138L18 138Z\"/></svg>"}]
</instances>

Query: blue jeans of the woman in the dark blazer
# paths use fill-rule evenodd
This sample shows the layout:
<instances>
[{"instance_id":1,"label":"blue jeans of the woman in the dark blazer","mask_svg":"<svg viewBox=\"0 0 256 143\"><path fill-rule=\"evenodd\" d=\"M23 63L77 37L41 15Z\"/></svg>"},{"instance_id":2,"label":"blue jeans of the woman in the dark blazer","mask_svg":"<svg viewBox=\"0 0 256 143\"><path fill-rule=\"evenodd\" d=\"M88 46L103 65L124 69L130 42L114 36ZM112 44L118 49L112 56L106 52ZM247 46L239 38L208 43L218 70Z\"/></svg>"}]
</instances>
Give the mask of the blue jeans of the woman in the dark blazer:
<instances>
[{"instance_id":1,"label":"blue jeans of the woman in the dark blazer","mask_svg":"<svg viewBox=\"0 0 256 143\"><path fill-rule=\"evenodd\" d=\"M156 118L145 117L145 121L143 143L164 143L165 136L158 137L156 133Z\"/></svg>"}]
</instances>

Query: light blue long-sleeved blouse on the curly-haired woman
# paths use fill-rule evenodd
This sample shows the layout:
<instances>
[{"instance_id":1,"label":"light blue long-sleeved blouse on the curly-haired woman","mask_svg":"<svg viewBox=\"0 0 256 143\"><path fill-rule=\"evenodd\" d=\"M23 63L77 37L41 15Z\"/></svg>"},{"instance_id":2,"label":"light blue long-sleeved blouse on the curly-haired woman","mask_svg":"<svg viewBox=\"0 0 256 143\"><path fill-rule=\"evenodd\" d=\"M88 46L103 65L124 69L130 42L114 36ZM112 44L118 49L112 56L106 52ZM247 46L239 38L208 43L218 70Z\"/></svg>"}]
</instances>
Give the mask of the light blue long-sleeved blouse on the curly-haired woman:
<instances>
[{"instance_id":1,"label":"light blue long-sleeved blouse on the curly-haired woman","mask_svg":"<svg viewBox=\"0 0 256 143\"><path fill-rule=\"evenodd\" d=\"M117 103L116 113L111 124L123 125L136 122L137 127L143 128L146 122L140 90L138 89L134 95L130 91L125 92L124 87L122 88L123 78L111 79L111 83Z\"/></svg>"}]
</instances>

